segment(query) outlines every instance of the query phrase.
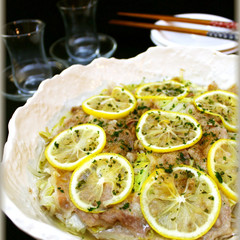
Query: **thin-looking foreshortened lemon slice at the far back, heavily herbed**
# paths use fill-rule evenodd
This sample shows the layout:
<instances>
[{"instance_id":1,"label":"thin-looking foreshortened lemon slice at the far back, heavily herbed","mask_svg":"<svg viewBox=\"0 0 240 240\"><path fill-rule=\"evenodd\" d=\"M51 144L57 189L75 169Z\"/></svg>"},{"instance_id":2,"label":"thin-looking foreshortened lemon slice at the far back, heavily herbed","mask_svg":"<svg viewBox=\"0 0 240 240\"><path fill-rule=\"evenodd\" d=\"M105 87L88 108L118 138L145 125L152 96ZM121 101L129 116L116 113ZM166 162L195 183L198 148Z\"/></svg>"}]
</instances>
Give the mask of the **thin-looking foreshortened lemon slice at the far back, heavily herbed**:
<instances>
[{"instance_id":1,"label":"thin-looking foreshortened lemon slice at the far back, heavily herbed","mask_svg":"<svg viewBox=\"0 0 240 240\"><path fill-rule=\"evenodd\" d=\"M142 99L173 99L187 96L189 87L175 81L152 82L137 88L135 96Z\"/></svg>"}]
</instances>

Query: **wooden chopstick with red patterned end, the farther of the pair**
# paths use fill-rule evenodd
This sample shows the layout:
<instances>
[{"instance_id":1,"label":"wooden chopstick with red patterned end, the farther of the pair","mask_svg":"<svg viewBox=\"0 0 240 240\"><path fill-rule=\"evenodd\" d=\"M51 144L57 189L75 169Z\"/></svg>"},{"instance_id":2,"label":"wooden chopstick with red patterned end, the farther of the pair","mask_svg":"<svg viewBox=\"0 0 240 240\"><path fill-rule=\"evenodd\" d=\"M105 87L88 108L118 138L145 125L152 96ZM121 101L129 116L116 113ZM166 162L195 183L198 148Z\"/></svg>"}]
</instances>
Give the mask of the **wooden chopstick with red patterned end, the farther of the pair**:
<instances>
[{"instance_id":1,"label":"wooden chopstick with red patterned end, the farther of the pair","mask_svg":"<svg viewBox=\"0 0 240 240\"><path fill-rule=\"evenodd\" d=\"M215 27L224 27L229 29L237 29L237 23L233 21L231 22L212 21L212 20L205 20L205 19L183 18L183 17L174 17L174 16L168 16L168 15L159 15L159 14L146 14L146 13L118 12L117 14L120 16L126 16L126 17L138 17L138 18L153 19L153 20L186 22L186 23L210 25Z\"/></svg>"}]
</instances>

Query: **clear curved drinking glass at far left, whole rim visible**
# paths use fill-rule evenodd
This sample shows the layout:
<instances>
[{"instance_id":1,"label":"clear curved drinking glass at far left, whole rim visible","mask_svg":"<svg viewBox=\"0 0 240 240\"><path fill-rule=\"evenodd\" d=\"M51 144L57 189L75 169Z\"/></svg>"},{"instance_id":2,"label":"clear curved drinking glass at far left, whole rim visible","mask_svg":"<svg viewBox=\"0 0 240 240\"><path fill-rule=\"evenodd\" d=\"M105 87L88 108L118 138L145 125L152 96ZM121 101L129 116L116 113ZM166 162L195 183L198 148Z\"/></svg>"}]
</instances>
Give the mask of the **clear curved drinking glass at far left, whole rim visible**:
<instances>
[{"instance_id":1,"label":"clear curved drinking glass at far left, whole rim visible","mask_svg":"<svg viewBox=\"0 0 240 240\"><path fill-rule=\"evenodd\" d=\"M26 19L7 23L3 29L13 80L24 94L33 94L43 80L52 77L43 43L44 28L41 20Z\"/></svg>"}]
</instances>

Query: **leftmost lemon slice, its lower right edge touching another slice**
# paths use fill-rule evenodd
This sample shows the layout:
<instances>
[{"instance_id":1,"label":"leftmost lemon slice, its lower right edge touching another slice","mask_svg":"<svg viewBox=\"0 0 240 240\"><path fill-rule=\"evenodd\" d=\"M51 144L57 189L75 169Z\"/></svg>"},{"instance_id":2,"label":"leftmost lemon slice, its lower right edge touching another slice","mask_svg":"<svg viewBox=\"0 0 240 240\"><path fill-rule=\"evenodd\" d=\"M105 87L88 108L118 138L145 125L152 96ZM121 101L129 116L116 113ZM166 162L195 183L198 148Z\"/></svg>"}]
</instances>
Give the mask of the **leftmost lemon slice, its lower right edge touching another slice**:
<instances>
[{"instance_id":1,"label":"leftmost lemon slice, its lower right edge touching another slice","mask_svg":"<svg viewBox=\"0 0 240 240\"><path fill-rule=\"evenodd\" d=\"M53 167L72 171L89 155L101 152L105 144L103 128L82 124L59 133L47 146L45 156Z\"/></svg>"}]
</instances>

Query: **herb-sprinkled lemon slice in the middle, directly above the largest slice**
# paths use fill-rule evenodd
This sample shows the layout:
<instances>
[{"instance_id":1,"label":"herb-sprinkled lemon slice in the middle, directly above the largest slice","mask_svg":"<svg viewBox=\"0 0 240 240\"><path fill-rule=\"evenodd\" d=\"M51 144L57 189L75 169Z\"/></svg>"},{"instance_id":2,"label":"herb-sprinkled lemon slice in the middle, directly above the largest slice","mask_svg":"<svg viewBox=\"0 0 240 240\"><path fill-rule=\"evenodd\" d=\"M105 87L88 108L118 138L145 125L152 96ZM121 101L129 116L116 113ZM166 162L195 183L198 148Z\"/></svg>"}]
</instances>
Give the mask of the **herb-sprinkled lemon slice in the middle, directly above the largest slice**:
<instances>
[{"instance_id":1,"label":"herb-sprinkled lemon slice in the middle, directly above the largest slice","mask_svg":"<svg viewBox=\"0 0 240 240\"><path fill-rule=\"evenodd\" d=\"M197 143L202 136L202 128L188 114L150 110L141 116L136 135L147 150L172 152Z\"/></svg>"}]
</instances>

